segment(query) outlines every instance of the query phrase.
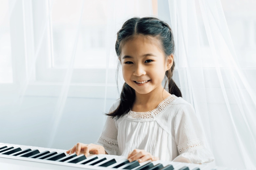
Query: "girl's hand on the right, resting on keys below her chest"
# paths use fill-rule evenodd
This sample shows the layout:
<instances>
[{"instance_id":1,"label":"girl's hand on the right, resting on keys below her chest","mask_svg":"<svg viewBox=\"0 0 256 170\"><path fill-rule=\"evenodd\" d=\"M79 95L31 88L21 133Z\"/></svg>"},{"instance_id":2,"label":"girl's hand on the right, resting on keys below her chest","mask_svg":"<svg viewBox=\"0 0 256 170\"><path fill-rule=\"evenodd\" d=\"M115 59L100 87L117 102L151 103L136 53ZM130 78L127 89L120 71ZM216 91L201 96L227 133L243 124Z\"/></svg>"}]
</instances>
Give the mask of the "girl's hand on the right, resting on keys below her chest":
<instances>
[{"instance_id":1,"label":"girl's hand on the right, resting on keys below her chest","mask_svg":"<svg viewBox=\"0 0 256 170\"><path fill-rule=\"evenodd\" d=\"M157 161L159 160L158 157L152 156L149 152L146 152L145 150L140 150L140 149L134 149L132 152L128 154L127 158L130 162L138 160L139 163L147 161L147 160L152 160L152 161Z\"/></svg>"}]
</instances>

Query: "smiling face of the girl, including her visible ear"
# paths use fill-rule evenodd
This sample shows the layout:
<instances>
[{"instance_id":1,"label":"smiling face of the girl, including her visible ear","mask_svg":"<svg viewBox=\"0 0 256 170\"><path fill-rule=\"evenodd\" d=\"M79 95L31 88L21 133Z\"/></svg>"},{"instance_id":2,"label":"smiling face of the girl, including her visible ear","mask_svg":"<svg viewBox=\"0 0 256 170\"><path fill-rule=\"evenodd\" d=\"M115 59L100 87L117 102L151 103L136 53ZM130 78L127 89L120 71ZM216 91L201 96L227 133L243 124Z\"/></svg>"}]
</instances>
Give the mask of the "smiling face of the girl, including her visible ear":
<instances>
[{"instance_id":1,"label":"smiling face of the girl, including her visible ear","mask_svg":"<svg viewBox=\"0 0 256 170\"><path fill-rule=\"evenodd\" d=\"M124 43L120 54L124 81L137 93L162 90L165 71L173 63L173 55L165 61L157 38L138 35ZM147 81L147 82L145 82Z\"/></svg>"}]
</instances>

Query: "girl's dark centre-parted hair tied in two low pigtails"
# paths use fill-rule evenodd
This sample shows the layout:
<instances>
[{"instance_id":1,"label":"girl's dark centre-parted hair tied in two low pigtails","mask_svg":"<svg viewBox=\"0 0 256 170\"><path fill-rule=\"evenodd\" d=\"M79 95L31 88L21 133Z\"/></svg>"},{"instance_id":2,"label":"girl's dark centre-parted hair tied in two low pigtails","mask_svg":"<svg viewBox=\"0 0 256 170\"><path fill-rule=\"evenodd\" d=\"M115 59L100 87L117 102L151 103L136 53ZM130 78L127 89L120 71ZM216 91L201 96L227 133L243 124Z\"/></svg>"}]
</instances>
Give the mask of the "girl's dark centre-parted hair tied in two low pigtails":
<instances>
[{"instance_id":1,"label":"girl's dark centre-parted hair tied in two low pigtails","mask_svg":"<svg viewBox=\"0 0 256 170\"><path fill-rule=\"evenodd\" d=\"M164 51L165 58L171 54L174 54L174 39L173 33L170 26L154 17L134 17L127 20L122 28L117 32L116 41L116 53L119 59L117 67L117 80L118 80L118 69L121 64L120 54L122 46L125 42L132 39L135 35L144 35L156 37L161 42L162 50ZM175 63L173 61L172 67L165 72L165 76L168 78L169 93L176 95L177 97L182 97L181 91L172 79L172 74L174 70ZM164 87L166 85L164 84ZM127 83L124 83L122 92L120 94L120 103L116 110L110 112L106 115L112 116L112 118L119 119L125 114L129 113L132 109L135 101L135 90L130 87Z\"/></svg>"}]
</instances>

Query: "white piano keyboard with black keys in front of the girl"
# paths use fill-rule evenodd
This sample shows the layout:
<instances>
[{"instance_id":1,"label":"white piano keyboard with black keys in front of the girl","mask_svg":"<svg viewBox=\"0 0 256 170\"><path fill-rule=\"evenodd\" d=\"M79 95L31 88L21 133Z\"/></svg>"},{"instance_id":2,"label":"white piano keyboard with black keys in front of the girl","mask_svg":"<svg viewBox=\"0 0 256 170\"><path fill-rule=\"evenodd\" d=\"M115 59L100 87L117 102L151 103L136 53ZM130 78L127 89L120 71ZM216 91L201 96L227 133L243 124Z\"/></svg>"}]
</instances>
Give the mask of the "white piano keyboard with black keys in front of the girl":
<instances>
[{"instance_id":1,"label":"white piano keyboard with black keys in front of the girl","mask_svg":"<svg viewBox=\"0 0 256 170\"><path fill-rule=\"evenodd\" d=\"M51 149L18 144L0 143L0 169L24 170L228 170L210 167L206 163L193 164L173 161L129 162L117 155L67 154L67 150Z\"/></svg>"}]
</instances>

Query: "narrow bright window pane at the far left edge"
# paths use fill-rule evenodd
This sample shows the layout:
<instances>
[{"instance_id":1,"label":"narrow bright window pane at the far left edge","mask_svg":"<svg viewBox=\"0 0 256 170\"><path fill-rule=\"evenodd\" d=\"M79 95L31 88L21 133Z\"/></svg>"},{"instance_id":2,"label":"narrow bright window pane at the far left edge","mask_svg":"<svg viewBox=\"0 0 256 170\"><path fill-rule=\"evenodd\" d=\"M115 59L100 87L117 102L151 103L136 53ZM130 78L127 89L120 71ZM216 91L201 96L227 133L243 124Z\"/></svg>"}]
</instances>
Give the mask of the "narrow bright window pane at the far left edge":
<instances>
[{"instance_id":1,"label":"narrow bright window pane at the far left edge","mask_svg":"<svg viewBox=\"0 0 256 170\"><path fill-rule=\"evenodd\" d=\"M12 82L9 2L2 0L0 5L0 83Z\"/></svg>"}]
</instances>

